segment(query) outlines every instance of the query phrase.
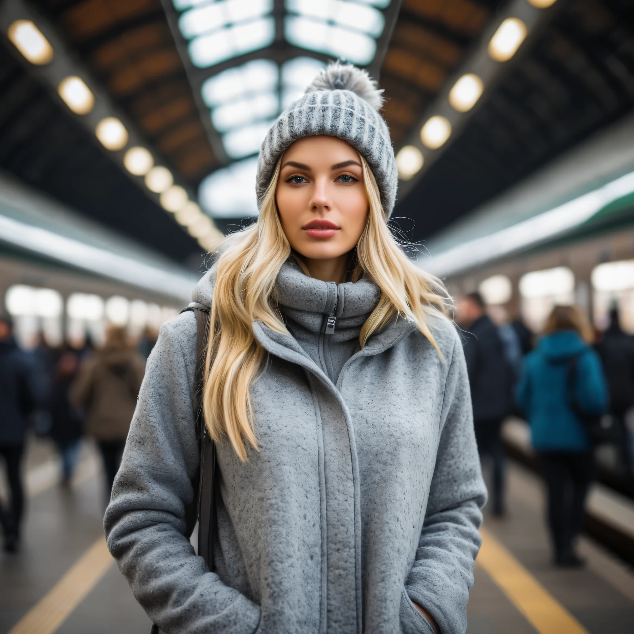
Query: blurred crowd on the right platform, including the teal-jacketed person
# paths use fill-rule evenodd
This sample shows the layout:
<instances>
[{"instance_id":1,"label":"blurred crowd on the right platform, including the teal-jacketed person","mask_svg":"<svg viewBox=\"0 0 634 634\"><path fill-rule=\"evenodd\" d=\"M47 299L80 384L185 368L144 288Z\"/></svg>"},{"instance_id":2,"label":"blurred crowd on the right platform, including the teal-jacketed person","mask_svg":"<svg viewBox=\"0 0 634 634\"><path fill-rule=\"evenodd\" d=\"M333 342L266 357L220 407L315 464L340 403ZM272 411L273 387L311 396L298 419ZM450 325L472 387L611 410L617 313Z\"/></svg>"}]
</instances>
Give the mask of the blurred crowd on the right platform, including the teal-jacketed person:
<instances>
[{"instance_id":1,"label":"blurred crowd on the right platform, including the teal-jacketed person","mask_svg":"<svg viewBox=\"0 0 634 634\"><path fill-rule=\"evenodd\" d=\"M456 304L465 343L475 437L493 462L493 514L505 514L503 421L526 418L547 486L553 560L583 564L574 550L585 500L595 477L595 448L611 444L616 469L634 479L634 337L619 325L618 308L595 333L578 306L555 306L536 340L502 307L472 293Z\"/></svg>"}]
</instances>

